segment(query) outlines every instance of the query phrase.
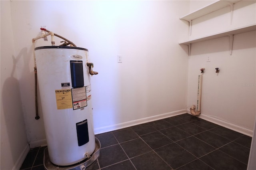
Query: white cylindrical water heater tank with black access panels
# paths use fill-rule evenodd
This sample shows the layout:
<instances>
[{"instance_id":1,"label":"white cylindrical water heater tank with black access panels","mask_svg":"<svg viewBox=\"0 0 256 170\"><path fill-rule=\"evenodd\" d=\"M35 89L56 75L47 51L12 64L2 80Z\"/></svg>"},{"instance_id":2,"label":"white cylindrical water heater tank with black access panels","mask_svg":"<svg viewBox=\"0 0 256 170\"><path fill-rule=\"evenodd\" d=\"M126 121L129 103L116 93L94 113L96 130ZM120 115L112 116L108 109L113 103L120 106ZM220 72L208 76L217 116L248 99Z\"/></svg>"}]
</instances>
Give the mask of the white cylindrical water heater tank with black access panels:
<instances>
[{"instance_id":1,"label":"white cylindrical water heater tank with black access panels","mask_svg":"<svg viewBox=\"0 0 256 170\"><path fill-rule=\"evenodd\" d=\"M35 55L50 161L78 164L95 149L88 50L44 46Z\"/></svg>"}]
</instances>

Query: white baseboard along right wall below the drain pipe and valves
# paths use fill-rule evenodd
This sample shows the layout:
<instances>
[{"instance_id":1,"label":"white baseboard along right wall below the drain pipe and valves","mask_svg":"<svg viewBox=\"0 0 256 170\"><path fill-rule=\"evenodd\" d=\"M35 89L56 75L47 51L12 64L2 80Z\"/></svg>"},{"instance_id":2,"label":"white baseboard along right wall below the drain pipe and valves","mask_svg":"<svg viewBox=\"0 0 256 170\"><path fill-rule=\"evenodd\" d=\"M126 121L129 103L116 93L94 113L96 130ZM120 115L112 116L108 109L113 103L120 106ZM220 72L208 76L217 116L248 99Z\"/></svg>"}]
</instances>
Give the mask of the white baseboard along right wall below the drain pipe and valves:
<instances>
[{"instance_id":1,"label":"white baseboard along right wall below the drain pipe and valves","mask_svg":"<svg viewBox=\"0 0 256 170\"><path fill-rule=\"evenodd\" d=\"M190 109L187 109L187 112L190 113ZM226 121L222 121L220 119L211 117L209 115L200 114L199 118L204 119L204 120L209 121L209 122L212 122L212 123L215 123L215 124L220 125L222 127L234 130L236 132L245 134L245 135L250 136L250 137L252 137L252 134L253 134L253 130L249 130L247 128L243 128L243 127L234 125L232 123L229 123L229 122L226 122Z\"/></svg>"}]
</instances>

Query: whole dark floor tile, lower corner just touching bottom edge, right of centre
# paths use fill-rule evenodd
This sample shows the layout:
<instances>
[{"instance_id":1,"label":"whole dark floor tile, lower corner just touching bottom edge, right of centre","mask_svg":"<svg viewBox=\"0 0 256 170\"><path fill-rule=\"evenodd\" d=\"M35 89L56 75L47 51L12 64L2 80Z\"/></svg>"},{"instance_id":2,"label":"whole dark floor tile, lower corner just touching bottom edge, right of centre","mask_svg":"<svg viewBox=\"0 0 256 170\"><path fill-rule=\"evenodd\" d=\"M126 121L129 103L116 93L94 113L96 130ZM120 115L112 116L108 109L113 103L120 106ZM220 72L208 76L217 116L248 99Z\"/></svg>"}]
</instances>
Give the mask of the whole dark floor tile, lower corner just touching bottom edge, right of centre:
<instances>
[{"instance_id":1,"label":"whole dark floor tile, lower corner just touching bottom edge, right of centre","mask_svg":"<svg viewBox=\"0 0 256 170\"><path fill-rule=\"evenodd\" d=\"M195 160L196 157L176 143L155 149L156 153L173 169Z\"/></svg>"}]
</instances>

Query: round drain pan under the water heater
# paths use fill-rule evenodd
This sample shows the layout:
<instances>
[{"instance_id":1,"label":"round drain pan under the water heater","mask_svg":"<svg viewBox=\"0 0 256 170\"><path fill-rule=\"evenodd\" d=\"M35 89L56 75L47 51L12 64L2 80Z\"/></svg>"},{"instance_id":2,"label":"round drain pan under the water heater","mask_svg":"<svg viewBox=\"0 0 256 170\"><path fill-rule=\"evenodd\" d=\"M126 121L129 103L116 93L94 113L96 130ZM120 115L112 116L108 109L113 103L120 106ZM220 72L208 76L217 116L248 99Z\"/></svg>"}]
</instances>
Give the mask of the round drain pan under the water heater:
<instances>
[{"instance_id":1,"label":"round drain pan under the water heater","mask_svg":"<svg viewBox=\"0 0 256 170\"><path fill-rule=\"evenodd\" d=\"M100 141L95 137L95 150L90 157L80 164L71 165L69 167L60 167L52 164L48 154L48 148L44 149L44 169L45 170L85 170L86 167L90 166L100 156Z\"/></svg>"}]
</instances>

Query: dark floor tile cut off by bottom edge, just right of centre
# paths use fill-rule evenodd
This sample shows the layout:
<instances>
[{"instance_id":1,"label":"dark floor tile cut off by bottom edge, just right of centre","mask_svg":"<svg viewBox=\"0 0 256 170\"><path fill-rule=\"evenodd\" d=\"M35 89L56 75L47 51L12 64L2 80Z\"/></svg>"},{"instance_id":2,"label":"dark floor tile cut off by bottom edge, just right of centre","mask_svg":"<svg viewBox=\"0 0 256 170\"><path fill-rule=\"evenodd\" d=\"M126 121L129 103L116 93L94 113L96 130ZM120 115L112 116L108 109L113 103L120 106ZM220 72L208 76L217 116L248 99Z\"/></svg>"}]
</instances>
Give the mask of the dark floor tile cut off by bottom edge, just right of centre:
<instances>
[{"instance_id":1,"label":"dark floor tile cut off by bottom edge, just right of centre","mask_svg":"<svg viewBox=\"0 0 256 170\"><path fill-rule=\"evenodd\" d=\"M137 170L171 170L154 151L136 156L131 159Z\"/></svg>"}]
</instances>

